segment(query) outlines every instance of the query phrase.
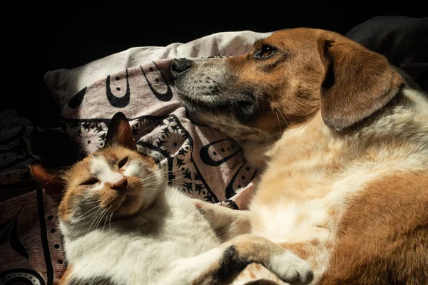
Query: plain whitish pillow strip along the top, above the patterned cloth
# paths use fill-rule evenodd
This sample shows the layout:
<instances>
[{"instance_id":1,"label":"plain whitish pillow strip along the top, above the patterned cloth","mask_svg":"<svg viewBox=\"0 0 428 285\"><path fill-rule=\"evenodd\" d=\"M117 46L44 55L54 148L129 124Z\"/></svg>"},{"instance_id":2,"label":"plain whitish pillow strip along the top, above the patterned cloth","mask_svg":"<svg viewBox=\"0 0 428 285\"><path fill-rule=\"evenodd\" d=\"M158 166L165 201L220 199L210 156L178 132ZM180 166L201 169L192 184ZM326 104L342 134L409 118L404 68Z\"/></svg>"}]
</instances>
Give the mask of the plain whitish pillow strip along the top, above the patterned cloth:
<instances>
[{"instance_id":1,"label":"plain whitish pillow strip along the top, above the patterned cloth","mask_svg":"<svg viewBox=\"0 0 428 285\"><path fill-rule=\"evenodd\" d=\"M171 43L166 47L129 48L84 66L49 71L45 74L44 80L59 107L62 108L79 90L126 68L141 66L165 58L237 56L247 53L256 40L270 36L270 34L253 31L213 33L189 43Z\"/></svg>"}]
</instances>

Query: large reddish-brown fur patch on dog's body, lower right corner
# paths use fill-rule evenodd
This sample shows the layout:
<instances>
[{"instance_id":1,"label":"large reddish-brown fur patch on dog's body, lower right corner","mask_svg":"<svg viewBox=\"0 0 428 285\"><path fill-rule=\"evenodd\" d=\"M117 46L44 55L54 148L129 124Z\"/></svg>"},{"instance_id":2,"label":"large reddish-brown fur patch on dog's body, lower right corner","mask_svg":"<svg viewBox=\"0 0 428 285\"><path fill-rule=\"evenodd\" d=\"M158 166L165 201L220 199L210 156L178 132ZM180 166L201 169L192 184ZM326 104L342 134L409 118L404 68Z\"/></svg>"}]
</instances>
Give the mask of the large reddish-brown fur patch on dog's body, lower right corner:
<instances>
[{"instance_id":1,"label":"large reddish-brown fur patch on dog's body, lower right corner","mask_svg":"<svg viewBox=\"0 0 428 285\"><path fill-rule=\"evenodd\" d=\"M427 172L389 175L368 185L340 222L330 267L320 283L427 282L427 185Z\"/></svg>"}]
</instances>

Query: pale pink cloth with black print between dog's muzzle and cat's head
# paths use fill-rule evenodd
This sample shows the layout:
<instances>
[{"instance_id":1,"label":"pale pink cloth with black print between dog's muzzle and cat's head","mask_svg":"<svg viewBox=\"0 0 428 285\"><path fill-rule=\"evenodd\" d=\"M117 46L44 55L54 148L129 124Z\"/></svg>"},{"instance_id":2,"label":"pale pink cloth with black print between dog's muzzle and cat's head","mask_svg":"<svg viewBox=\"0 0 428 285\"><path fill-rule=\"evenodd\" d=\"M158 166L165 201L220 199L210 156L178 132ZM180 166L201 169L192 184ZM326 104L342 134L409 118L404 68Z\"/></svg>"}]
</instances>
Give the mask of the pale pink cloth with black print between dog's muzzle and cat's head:
<instances>
[{"instance_id":1,"label":"pale pink cloth with black print between dog's muzzle and cat's head","mask_svg":"<svg viewBox=\"0 0 428 285\"><path fill-rule=\"evenodd\" d=\"M121 111L138 151L153 157L170 185L190 197L245 209L257 170L235 140L188 118L170 80L172 59L127 68L80 90L61 110L80 157L103 147ZM250 185L250 187L248 187Z\"/></svg>"}]
</instances>

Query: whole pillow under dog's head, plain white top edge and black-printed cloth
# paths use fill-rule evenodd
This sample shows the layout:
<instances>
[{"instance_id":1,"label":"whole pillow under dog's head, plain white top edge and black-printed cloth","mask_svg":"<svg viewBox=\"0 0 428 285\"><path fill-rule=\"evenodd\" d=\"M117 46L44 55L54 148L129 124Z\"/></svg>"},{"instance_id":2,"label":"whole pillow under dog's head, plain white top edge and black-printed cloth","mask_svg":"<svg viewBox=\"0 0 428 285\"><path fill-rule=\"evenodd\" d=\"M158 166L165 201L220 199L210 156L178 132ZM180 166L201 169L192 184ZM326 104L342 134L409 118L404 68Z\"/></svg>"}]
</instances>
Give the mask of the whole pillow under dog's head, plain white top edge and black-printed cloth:
<instances>
[{"instance_id":1,"label":"whole pillow under dog's head, plain white top edge and black-printed cloth","mask_svg":"<svg viewBox=\"0 0 428 285\"><path fill-rule=\"evenodd\" d=\"M246 53L269 34L215 33L185 44L131 48L48 72L45 81L80 157L103 146L110 119L121 111L130 120L138 151L158 162L170 185L190 197L245 209L258 170L245 162L237 142L188 118L169 66L173 58Z\"/></svg>"}]
</instances>

